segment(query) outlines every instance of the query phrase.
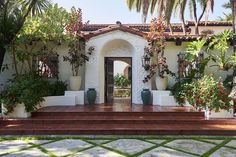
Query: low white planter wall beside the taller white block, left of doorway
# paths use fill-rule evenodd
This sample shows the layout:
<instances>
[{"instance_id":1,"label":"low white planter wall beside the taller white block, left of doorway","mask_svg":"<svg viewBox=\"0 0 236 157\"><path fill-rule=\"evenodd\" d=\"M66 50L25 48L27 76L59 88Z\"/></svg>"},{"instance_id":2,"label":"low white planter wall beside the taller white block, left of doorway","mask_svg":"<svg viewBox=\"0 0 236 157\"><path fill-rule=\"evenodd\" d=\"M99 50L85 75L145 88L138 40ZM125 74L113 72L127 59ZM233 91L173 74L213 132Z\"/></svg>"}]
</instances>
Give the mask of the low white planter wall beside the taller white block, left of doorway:
<instances>
[{"instance_id":1,"label":"low white planter wall beside the taller white block, left of doorway","mask_svg":"<svg viewBox=\"0 0 236 157\"><path fill-rule=\"evenodd\" d=\"M39 108L48 106L75 106L74 96L48 96L44 97L44 101Z\"/></svg>"}]
</instances>

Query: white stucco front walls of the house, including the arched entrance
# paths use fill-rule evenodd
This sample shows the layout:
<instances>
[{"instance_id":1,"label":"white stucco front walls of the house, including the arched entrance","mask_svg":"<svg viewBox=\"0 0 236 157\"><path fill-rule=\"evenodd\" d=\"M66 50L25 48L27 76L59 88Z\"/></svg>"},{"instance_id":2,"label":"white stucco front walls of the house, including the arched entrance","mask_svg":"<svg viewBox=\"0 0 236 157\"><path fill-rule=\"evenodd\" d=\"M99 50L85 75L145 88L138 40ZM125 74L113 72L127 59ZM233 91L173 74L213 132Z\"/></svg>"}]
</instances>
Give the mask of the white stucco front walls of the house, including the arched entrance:
<instances>
[{"instance_id":1,"label":"white stucco front walls of the house, including the arched entrance","mask_svg":"<svg viewBox=\"0 0 236 157\"><path fill-rule=\"evenodd\" d=\"M219 30L217 29L219 28ZM216 31L223 31L225 27L217 27ZM206 28L204 28L206 29ZM215 30L215 28L214 28ZM177 54L183 52L189 42L183 42L181 46L176 46L175 42L167 42L165 56L169 69L173 72L178 71ZM89 62L81 68L82 90L87 91L88 88L95 88L97 91L96 103L104 103L104 87L105 87L105 71L104 57L132 57L132 103L140 104L141 91L143 88L155 89L155 84L143 83L142 80L146 76L146 72L142 67L141 57L144 53L144 47L147 46L147 41L137 35L122 31L113 31L91 38L86 43L86 49L93 46L95 51L90 56ZM67 45L54 45L54 51L59 54L59 79L68 82L72 75L71 66L68 62L63 61L63 56L68 53ZM0 73L0 85L6 85L6 82L14 74L12 68L12 60L9 53L4 58L4 64L9 64L9 70ZM217 71L217 67L206 68L206 72L215 73L216 77L226 77L230 72ZM85 70L85 72L84 72ZM169 87L175 83L174 78L169 77ZM1 89L1 87L0 87Z\"/></svg>"}]
</instances>

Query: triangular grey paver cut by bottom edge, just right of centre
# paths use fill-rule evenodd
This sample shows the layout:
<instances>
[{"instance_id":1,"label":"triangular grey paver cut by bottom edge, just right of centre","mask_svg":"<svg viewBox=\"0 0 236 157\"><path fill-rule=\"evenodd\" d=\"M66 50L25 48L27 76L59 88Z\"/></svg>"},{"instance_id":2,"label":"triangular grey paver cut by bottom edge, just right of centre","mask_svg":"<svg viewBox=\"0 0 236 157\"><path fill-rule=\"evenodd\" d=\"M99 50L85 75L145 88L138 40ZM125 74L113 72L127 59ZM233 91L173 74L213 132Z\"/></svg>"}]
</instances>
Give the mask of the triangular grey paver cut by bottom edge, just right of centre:
<instances>
[{"instance_id":1,"label":"triangular grey paver cut by bottom edge, just right of centre","mask_svg":"<svg viewBox=\"0 0 236 157\"><path fill-rule=\"evenodd\" d=\"M194 156L173 149L158 147L140 155L139 157L194 157Z\"/></svg>"}]
</instances>

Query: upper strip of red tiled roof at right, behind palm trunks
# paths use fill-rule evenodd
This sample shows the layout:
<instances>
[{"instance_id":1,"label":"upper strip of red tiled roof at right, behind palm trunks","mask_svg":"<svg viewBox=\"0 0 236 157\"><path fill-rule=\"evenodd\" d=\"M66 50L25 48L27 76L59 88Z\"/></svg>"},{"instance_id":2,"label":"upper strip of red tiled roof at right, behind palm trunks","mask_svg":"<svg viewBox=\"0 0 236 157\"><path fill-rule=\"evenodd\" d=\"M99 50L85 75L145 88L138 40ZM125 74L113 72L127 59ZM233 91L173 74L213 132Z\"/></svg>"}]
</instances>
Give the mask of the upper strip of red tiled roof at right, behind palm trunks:
<instances>
[{"instance_id":1,"label":"upper strip of red tiled roof at right, behind palm trunks","mask_svg":"<svg viewBox=\"0 0 236 157\"><path fill-rule=\"evenodd\" d=\"M187 26L194 26L194 21L187 21ZM201 21L199 23L199 26L232 26L232 22L227 21L208 21L205 23L205 21Z\"/></svg>"}]
</instances>

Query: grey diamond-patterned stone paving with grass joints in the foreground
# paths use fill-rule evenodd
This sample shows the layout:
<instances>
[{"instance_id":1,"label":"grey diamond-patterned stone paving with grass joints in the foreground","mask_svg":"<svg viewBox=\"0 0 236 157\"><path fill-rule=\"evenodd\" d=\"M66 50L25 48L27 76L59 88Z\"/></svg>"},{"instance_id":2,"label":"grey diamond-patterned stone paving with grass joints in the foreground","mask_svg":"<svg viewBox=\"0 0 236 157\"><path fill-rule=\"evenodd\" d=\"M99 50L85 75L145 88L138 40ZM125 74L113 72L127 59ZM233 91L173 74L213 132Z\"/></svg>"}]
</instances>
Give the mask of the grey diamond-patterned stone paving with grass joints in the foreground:
<instances>
[{"instance_id":1,"label":"grey diamond-patterned stone paving with grass joints in the foreground","mask_svg":"<svg viewBox=\"0 0 236 157\"><path fill-rule=\"evenodd\" d=\"M4 157L236 157L236 138L0 138Z\"/></svg>"}]
</instances>

